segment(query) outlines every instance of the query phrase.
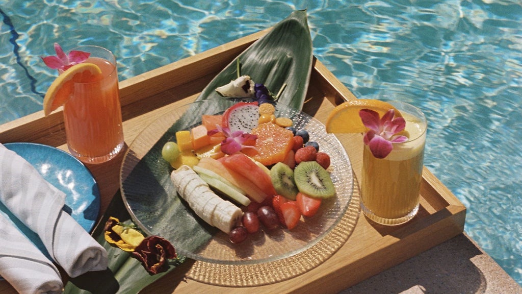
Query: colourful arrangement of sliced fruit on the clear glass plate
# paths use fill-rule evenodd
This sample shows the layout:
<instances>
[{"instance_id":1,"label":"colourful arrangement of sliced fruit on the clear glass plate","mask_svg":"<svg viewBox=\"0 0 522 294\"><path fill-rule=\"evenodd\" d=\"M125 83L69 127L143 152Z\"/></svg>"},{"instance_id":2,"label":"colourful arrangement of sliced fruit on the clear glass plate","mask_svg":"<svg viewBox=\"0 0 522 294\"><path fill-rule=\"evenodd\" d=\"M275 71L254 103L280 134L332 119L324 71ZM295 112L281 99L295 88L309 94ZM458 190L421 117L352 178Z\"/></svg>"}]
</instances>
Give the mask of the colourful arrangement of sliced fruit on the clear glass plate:
<instances>
[{"instance_id":1,"label":"colourful arrangement of sliced fruit on the clear glass plate","mask_svg":"<svg viewBox=\"0 0 522 294\"><path fill-rule=\"evenodd\" d=\"M222 115L204 115L174 139L162 157L174 168L178 193L233 243L262 228L292 230L316 214L322 199L335 197L329 155L292 119L277 117L270 103L236 103ZM203 191L206 197L193 196ZM216 196L240 217L209 191L230 200Z\"/></svg>"}]
</instances>

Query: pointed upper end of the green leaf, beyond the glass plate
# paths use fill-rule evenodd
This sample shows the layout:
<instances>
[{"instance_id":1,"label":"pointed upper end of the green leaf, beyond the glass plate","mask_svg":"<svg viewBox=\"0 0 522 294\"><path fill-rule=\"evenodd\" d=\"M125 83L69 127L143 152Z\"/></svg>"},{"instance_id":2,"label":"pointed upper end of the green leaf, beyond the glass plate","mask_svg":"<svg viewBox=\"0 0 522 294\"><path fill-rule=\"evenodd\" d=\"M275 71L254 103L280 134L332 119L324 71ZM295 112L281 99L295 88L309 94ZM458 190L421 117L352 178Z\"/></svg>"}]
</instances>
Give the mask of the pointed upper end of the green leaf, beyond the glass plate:
<instances>
[{"instance_id":1,"label":"pointed upper end of the green leaf, beyond the glass plate","mask_svg":"<svg viewBox=\"0 0 522 294\"><path fill-rule=\"evenodd\" d=\"M238 56L241 75L264 84L278 93L286 84L278 103L301 110L312 72L312 39L306 10L293 12L279 22L267 35L259 38ZM215 90L238 77L233 60L205 87L196 100L221 97Z\"/></svg>"}]
</instances>

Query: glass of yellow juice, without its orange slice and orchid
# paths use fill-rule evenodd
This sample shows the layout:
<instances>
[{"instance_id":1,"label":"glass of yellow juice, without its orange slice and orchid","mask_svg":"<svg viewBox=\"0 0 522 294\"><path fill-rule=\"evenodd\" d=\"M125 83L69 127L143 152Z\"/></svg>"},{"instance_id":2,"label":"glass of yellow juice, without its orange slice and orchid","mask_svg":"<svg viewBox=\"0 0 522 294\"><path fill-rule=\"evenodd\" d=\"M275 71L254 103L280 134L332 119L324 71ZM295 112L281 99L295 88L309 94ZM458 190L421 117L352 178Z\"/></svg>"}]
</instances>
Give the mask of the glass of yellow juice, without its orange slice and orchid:
<instances>
[{"instance_id":1,"label":"glass of yellow juice, without its orange slice and orchid","mask_svg":"<svg viewBox=\"0 0 522 294\"><path fill-rule=\"evenodd\" d=\"M361 210L381 224L397 225L411 220L419 210L420 185L427 123L423 112L410 104L387 101L406 120L408 140L393 143L383 159L363 150Z\"/></svg>"}]
</instances>

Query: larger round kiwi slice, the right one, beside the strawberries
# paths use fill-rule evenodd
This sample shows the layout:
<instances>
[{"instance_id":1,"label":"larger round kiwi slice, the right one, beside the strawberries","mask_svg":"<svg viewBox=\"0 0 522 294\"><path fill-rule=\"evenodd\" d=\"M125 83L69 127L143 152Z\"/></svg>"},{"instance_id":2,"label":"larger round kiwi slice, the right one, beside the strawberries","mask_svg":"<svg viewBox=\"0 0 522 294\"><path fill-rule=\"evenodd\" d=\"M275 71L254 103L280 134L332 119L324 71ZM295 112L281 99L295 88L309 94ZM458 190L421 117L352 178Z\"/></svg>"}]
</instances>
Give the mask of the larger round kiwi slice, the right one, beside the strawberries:
<instances>
[{"instance_id":1,"label":"larger round kiwi slice, the right one, beside the strawberries","mask_svg":"<svg viewBox=\"0 0 522 294\"><path fill-rule=\"evenodd\" d=\"M294 179L299 191L306 195L317 198L329 198L335 195L330 174L315 161L304 161L296 166Z\"/></svg>"}]
</instances>

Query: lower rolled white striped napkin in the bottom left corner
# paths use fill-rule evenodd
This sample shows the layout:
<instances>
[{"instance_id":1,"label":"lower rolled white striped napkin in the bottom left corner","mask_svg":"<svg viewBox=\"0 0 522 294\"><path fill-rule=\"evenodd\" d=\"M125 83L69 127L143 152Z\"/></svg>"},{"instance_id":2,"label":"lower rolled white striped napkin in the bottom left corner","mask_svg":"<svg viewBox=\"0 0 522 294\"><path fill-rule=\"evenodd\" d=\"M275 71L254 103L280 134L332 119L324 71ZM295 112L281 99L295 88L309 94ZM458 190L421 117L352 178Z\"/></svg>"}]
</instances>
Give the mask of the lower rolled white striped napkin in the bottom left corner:
<instances>
[{"instance_id":1,"label":"lower rolled white striped napkin in the bottom left corner","mask_svg":"<svg viewBox=\"0 0 522 294\"><path fill-rule=\"evenodd\" d=\"M0 213L0 275L19 293L62 293L60 272Z\"/></svg>"}]
</instances>

